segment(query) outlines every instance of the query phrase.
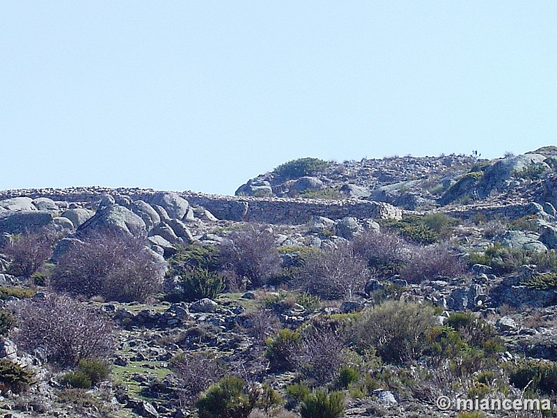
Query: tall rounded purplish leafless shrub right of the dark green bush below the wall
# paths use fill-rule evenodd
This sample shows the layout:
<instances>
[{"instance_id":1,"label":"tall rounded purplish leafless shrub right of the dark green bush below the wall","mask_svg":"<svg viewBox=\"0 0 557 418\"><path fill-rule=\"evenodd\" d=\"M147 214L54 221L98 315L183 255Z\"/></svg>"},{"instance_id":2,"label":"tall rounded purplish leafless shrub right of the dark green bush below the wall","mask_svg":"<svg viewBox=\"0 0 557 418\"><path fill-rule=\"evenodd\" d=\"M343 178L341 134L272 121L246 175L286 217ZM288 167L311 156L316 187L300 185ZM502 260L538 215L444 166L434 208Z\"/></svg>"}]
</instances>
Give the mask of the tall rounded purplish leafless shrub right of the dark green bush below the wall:
<instances>
[{"instance_id":1,"label":"tall rounded purplish leafless shrub right of the dark green bush below the wall","mask_svg":"<svg viewBox=\"0 0 557 418\"><path fill-rule=\"evenodd\" d=\"M246 278L253 288L274 279L281 272L281 258L273 233L262 226L233 231L220 246L224 270Z\"/></svg>"}]
</instances>

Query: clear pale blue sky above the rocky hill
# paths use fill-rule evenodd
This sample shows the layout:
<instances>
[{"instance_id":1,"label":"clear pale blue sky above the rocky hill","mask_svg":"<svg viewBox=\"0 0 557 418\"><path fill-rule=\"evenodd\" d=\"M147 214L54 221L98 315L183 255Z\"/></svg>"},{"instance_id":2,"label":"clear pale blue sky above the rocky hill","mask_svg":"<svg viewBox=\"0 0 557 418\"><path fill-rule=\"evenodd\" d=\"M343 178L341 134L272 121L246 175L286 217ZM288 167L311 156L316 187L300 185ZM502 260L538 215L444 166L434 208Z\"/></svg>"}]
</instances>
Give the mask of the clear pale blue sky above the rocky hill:
<instances>
[{"instance_id":1,"label":"clear pale blue sky above the rocky hill","mask_svg":"<svg viewBox=\"0 0 557 418\"><path fill-rule=\"evenodd\" d=\"M233 194L297 157L556 144L555 1L0 2L0 189Z\"/></svg>"}]
</instances>

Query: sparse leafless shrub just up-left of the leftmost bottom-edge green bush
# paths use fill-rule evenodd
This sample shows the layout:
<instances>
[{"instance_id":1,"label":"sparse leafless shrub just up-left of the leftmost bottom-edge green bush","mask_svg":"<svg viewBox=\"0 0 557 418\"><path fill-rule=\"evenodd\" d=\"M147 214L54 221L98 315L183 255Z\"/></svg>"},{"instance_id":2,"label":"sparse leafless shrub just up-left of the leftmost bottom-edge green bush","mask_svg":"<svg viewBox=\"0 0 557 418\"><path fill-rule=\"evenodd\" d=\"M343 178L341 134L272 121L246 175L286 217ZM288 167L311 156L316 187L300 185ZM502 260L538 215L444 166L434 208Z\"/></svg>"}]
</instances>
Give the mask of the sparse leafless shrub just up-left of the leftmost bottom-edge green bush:
<instances>
[{"instance_id":1,"label":"sparse leafless shrub just up-left of the leftmost bottom-edge green bush","mask_svg":"<svg viewBox=\"0 0 557 418\"><path fill-rule=\"evenodd\" d=\"M194 405L199 394L226 372L218 359L204 353L182 353L171 360L170 366L180 380L178 396L182 406Z\"/></svg>"}]
</instances>

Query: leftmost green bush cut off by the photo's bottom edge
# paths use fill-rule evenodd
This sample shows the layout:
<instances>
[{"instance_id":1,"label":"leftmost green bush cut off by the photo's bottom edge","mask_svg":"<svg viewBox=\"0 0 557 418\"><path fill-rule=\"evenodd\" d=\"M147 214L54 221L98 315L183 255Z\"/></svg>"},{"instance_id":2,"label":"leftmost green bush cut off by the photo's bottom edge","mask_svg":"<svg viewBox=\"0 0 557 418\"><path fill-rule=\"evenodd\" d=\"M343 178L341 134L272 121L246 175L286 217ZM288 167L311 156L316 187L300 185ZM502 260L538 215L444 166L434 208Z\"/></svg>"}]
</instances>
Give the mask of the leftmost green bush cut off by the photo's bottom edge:
<instances>
[{"instance_id":1,"label":"leftmost green bush cut off by the photo's bottom edge","mask_svg":"<svg viewBox=\"0 0 557 418\"><path fill-rule=\"evenodd\" d=\"M222 378L199 397L199 418L246 418L256 405L244 393L246 382L236 376Z\"/></svg>"}]
</instances>

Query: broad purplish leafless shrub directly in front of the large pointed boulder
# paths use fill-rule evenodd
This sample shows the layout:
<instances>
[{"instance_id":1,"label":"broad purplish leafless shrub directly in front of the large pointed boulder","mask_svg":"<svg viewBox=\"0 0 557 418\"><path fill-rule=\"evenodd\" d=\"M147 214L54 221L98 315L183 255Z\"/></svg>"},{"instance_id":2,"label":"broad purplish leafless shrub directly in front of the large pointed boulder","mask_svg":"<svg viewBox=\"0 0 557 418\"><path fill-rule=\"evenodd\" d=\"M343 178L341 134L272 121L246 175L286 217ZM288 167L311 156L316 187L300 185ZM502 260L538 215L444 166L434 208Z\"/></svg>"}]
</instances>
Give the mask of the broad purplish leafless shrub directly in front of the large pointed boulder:
<instances>
[{"instance_id":1,"label":"broad purplish leafless shrub directly in front of the large pointed boulder","mask_svg":"<svg viewBox=\"0 0 557 418\"><path fill-rule=\"evenodd\" d=\"M52 285L58 291L105 300L143 301L162 288L165 269L143 238L95 233L76 240L58 258Z\"/></svg>"}]
</instances>

